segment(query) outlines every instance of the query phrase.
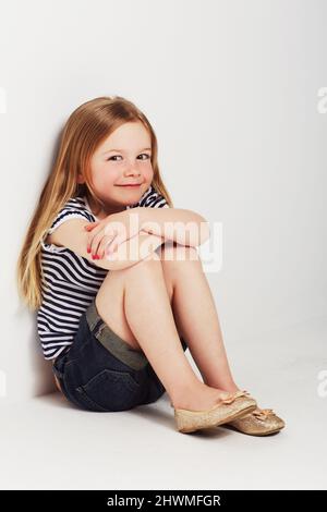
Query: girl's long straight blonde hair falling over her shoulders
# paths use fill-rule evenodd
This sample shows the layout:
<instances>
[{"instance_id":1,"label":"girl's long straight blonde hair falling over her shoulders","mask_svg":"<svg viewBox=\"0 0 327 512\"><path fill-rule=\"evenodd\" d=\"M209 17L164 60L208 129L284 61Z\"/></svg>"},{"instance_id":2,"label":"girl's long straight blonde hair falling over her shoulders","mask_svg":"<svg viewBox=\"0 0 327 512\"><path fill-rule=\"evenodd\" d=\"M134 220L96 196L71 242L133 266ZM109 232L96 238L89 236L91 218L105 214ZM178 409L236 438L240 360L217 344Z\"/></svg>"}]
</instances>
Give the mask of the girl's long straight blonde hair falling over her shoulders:
<instances>
[{"instance_id":1,"label":"girl's long straight blonde hair falling over her shoulders","mask_svg":"<svg viewBox=\"0 0 327 512\"><path fill-rule=\"evenodd\" d=\"M145 114L121 96L104 96L81 105L72 112L63 127L55 164L33 212L17 260L19 294L31 309L41 306L44 272L40 242L55 217L71 197L80 195L89 194L97 211L101 209L104 204L97 197L90 180L90 157L98 145L119 126L126 122L140 121L148 130L152 139L152 185L172 207L159 172L157 138ZM77 183L78 173L85 178L82 184Z\"/></svg>"}]
</instances>

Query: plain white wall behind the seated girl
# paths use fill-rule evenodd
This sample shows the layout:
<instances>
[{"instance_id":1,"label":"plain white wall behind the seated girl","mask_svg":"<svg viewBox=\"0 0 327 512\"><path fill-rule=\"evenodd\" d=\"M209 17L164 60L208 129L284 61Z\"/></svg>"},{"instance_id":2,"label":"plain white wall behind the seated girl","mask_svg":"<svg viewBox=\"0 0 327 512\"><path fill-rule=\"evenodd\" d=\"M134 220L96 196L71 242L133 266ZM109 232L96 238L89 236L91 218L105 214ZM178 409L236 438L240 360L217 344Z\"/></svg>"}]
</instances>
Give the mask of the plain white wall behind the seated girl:
<instances>
[{"instance_id":1,"label":"plain white wall behind the seated girl","mask_svg":"<svg viewBox=\"0 0 327 512\"><path fill-rule=\"evenodd\" d=\"M0 403L53 389L13 271L59 130L97 96L144 110L174 206L222 223L222 268L207 276L227 343L326 315L326 11L314 0L2 2Z\"/></svg>"}]
</instances>

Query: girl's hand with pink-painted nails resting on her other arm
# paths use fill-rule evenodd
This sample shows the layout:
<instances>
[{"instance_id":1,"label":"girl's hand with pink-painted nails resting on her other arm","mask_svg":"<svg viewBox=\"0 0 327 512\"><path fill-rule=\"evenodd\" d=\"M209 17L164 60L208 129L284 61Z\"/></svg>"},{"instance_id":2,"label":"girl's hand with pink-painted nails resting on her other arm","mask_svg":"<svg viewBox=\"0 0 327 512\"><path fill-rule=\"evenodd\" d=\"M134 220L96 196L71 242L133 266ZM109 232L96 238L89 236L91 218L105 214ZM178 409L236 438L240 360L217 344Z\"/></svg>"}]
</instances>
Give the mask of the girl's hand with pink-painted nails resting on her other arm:
<instances>
[{"instance_id":1,"label":"girl's hand with pink-painted nails resting on her other arm","mask_svg":"<svg viewBox=\"0 0 327 512\"><path fill-rule=\"evenodd\" d=\"M93 259L104 259L107 254L113 253L120 244L140 232L141 222L135 210L136 208L133 208L112 214L106 219L85 225L85 230L89 232L87 252L92 253Z\"/></svg>"}]
</instances>

